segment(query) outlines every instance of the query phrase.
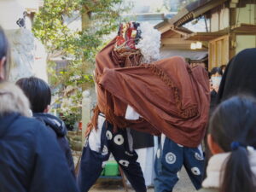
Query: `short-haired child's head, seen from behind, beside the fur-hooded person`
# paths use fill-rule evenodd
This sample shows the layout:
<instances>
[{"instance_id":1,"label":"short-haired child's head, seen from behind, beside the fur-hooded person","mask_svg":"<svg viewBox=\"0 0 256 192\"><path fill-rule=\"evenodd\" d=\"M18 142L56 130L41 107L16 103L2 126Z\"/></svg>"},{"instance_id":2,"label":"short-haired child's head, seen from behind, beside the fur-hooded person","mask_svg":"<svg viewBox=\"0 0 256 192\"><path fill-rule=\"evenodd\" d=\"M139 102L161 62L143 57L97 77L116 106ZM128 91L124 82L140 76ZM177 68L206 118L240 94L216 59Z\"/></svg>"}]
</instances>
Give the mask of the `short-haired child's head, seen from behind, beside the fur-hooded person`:
<instances>
[{"instance_id":1,"label":"short-haired child's head, seen from behind, beside the fur-hooded person","mask_svg":"<svg viewBox=\"0 0 256 192\"><path fill-rule=\"evenodd\" d=\"M47 112L51 102L49 85L43 80L35 77L19 79L16 82L24 91L31 103L33 113Z\"/></svg>"}]
</instances>

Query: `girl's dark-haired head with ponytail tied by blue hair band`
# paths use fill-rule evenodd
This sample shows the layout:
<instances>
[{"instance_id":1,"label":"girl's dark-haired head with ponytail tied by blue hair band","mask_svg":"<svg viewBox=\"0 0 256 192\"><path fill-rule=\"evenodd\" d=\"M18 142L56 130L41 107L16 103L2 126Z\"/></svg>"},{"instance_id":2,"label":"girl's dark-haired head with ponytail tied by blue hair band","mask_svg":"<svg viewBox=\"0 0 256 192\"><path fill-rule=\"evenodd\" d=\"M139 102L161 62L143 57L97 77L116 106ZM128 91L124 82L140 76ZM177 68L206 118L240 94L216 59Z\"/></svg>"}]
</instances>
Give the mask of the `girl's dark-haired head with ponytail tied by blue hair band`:
<instances>
[{"instance_id":1,"label":"girl's dark-haired head with ponytail tied by blue hair band","mask_svg":"<svg viewBox=\"0 0 256 192\"><path fill-rule=\"evenodd\" d=\"M209 131L212 154L230 152L220 191L255 191L247 147L256 148L256 101L234 96L222 102L212 114Z\"/></svg>"}]
</instances>

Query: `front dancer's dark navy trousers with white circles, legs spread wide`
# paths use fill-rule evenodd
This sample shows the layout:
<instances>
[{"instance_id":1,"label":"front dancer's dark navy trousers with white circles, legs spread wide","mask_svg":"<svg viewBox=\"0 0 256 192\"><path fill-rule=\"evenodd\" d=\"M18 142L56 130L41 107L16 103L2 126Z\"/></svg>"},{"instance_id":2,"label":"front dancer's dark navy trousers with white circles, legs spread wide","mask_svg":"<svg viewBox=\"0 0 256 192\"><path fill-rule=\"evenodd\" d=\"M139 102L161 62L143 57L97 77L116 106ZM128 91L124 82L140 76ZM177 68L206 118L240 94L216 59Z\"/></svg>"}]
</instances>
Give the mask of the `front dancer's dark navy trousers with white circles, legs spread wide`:
<instances>
[{"instance_id":1,"label":"front dancer's dark navy trousers with white circles, legs spread wide","mask_svg":"<svg viewBox=\"0 0 256 192\"><path fill-rule=\"evenodd\" d=\"M102 129L98 131L101 131L97 135L100 138L88 139L84 144L78 176L80 191L87 192L96 183L110 153L125 172L131 186L137 192L147 191L141 166L137 163L137 153L132 149L132 137L127 130L113 132L113 125L104 120ZM93 143L96 139L100 140L98 144Z\"/></svg>"}]
</instances>

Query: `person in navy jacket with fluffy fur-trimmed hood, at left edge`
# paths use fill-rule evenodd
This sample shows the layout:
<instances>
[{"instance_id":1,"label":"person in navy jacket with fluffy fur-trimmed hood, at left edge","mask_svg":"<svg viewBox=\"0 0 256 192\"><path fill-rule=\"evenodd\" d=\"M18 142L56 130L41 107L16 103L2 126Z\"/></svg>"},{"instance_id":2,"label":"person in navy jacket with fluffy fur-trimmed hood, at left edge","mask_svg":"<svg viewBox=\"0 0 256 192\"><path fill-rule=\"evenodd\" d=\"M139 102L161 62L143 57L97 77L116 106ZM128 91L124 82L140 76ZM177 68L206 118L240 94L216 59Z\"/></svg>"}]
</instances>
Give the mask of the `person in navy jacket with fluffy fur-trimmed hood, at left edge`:
<instances>
[{"instance_id":1,"label":"person in navy jacket with fluffy fur-trimmed hood, at left edge","mask_svg":"<svg viewBox=\"0 0 256 192\"><path fill-rule=\"evenodd\" d=\"M8 40L0 27L1 81L9 74L8 52ZM26 117L26 96L14 89L12 92L10 86L0 84L0 191L78 192L55 137L38 120ZM21 104L23 110L18 106Z\"/></svg>"}]
</instances>

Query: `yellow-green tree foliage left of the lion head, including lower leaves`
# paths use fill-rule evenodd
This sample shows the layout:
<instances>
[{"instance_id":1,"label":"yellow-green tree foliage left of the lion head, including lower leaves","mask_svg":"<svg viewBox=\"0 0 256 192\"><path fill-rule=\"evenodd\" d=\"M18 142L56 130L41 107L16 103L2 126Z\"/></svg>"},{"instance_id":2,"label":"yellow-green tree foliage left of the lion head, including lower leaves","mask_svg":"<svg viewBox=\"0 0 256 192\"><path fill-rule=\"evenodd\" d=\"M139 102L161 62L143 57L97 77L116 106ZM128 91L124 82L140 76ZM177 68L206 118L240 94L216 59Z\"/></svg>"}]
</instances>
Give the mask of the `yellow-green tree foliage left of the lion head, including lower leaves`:
<instances>
[{"instance_id":1,"label":"yellow-green tree foliage left of the lion head, including lower leaves","mask_svg":"<svg viewBox=\"0 0 256 192\"><path fill-rule=\"evenodd\" d=\"M119 13L124 9L122 0L44 0L32 31L48 50L49 82L54 89L58 88L57 93L61 93L63 99L68 85L85 89L93 84L91 71L96 53L105 43L103 38L117 30ZM82 30L69 27L67 20L78 18L82 19ZM68 61L67 67L58 73L52 61L55 57ZM73 102L81 102L79 94L79 91L74 93ZM74 119L80 118L76 116L79 109L70 107L69 111Z\"/></svg>"}]
</instances>

